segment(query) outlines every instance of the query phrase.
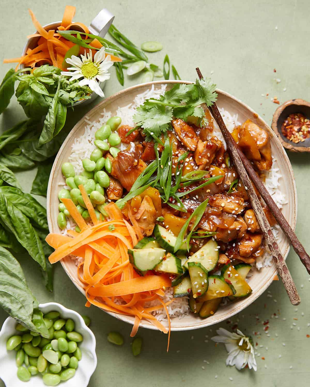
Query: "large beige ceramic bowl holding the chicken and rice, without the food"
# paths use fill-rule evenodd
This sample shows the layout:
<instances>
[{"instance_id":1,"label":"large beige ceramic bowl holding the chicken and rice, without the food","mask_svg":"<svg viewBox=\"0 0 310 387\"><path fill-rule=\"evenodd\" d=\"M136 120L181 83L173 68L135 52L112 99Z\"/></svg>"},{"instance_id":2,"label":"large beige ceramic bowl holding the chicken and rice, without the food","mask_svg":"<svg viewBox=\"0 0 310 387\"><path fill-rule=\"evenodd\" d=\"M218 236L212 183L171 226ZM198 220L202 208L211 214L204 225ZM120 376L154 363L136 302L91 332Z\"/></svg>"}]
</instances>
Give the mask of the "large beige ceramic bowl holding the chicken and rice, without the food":
<instances>
[{"instance_id":1,"label":"large beige ceramic bowl holding the chicken and rice, without the food","mask_svg":"<svg viewBox=\"0 0 310 387\"><path fill-rule=\"evenodd\" d=\"M137 94L145 92L150 89L152 85L155 88L160 88L162 84L167 84L167 89L170 89L174 84L179 83L179 81L168 80L165 82L157 81L150 82L146 84L141 84L134 87L129 87L128 89L122 90L117 94L105 99L102 103L98 104L87 113L87 118L89 121L99 120L103 109L110 111L113 115L116 115L116 110L118 106L127 106L133 102L133 99ZM191 82L181 82L185 84L190 84ZM296 226L296 214L297 214L297 194L295 187L295 180L293 176L293 170L289 162L288 156L284 151L281 143L277 139L277 136L269 128L269 126L263 121L263 119L255 113L249 106L245 103L239 101L237 98L231 96L230 94L218 90L218 99L217 106L219 108L224 108L229 111L231 114L238 114L239 122L244 122L246 119L250 118L253 122L257 123L261 128L267 130L270 135L272 154L275 161L276 168L279 168L279 173L281 173L282 186L281 190L286 195L288 204L283 205L282 213L286 217L288 223L291 225L292 229ZM88 122L89 122L88 121ZM126 122L124 122L126 124ZM62 144L55 162L53 164L52 172L50 174L50 180L48 183L48 193L47 193L47 219L48 226L51 233L60 233L60 229L57 225L57 215L58 215L58 204L59 200L57 197L59 191L59 183L63 182L63 176L61 173L61 165L68 160L69 155L71 154L71 146L74 143L74 139L79 137L84 133L85 121L82 119L79 121L74 128L71 130L67 139ZM283 257L287 257L289 252L289 243L286 238L282 238L279 242L279 248ZM77 267L74 264L72 259L64 259L61 261L61 264L68 274L71 281L74 285L84 293L83 284L79 281L77 277ZM172 330L190 330L202 328L207 325L217 324L223 320L232 317L236 313L241 312L244 308L249 306L253 301L255 301L272 283L274 276L277 273L276 265L272 263L270 267L260 269L256 271L255 274L250 277L249 284L253 289L253 292L247 298L241 299L235 303L228 303L225 307L220 307L219 310L211 317L207 319L200 319L192 313L188 316L183 317L183 319L172 319L171 320L171 329ZM115 313L109 313L110 315L116 317L117 319L133 324L134 319L130 316L119 315ZM150 322L141 321L141 326L148 329L156 329Z\"/></svg>"}]
</instances>

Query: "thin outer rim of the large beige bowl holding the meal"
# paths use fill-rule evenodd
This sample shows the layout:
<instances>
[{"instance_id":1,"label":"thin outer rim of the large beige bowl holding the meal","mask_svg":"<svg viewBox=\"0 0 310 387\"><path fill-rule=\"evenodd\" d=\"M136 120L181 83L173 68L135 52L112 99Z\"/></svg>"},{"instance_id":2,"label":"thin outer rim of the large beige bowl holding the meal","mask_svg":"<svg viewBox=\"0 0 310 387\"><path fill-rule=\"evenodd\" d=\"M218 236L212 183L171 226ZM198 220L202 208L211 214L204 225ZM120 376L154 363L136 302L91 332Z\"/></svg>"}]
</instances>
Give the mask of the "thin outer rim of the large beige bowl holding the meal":
<instances>
[{"instance_id":1,"label":"thin outer rim of the large beige bowl holding the meal","mask_svg":"<svg viewBox=\"0 0 310 387\"><path fill-rule=\"evenodd\" d=\"M94 106L90 111L88 111L86 113L86 115L91 115L91 113L94 111L94 110L97 110L98 108L100 108L100 106L102 104L106 104L106 103L109 103L109 101L112 99L117 99L119 96L121 96L123 93L126 93L128 91L133 91L134 89L137 89L141 86L149 86L149 87L152 87L152 85L160 85L160 84L176 84L176 83L183 83L183 84L192 84L193 82L190 82L190 81L185 81L185 80L166 80L165 82L162 81L162 80L157 80L157 81L152 81L152 82L145 82L145 83L142 83L142 84L138 84L138 85L135 85L135 86L131 86L131 87L127 87L126 89L123 89L115 94L113 94L112 96L109 96L108 98L106 98L104 101L98 103L96 106ZM291 166L291 162L289 161L289 158L288 158L288 155L286 154L286 152L284 151L282 145L281 145L281 142L280 140L278 139L277 135L274 133L274 131L270 128L269 125L267 125L267 123L265 122L265 120L263 120L263 118L258 115L256 113L256 111L254 111L252 108L250 108L250 106L248 106L247 104L245 104L244 102L242 102L240 99L232 96L231 94L227 93L226 91L223 91L221 89L216 89L215 90L217 93L220 93L228 98L231 98L233 99L234 101L238 102L239 104L241 104L244 108L246 108L247 110L250 111L250 113L252 113L256 119L259 119L263 122L263 124L268 128L269 130L269 134L274 138L274 140L276 142L278 142L278 144L281 146L281 149L283 150L283 157L286 161L286 164L288 165L288 170L289 170L289 175L290 175L290 178L293 182L293 192L294 192L294 213L293 213L293 224L292 224L292 229L294 230L296 228L296 222L297 222L297 209L298 209L298 204L297 204L297 190L296 190L296 182L295 182L295 178L294 178L294 172L293 172L293 168ZM62 153L62 150L67 146L67 143L69 142L69 140L71 139L72 136L74 136L78 126L84 122L84 116L81 118L81 120L79 120L75 125L74 127L72 128L71 132L67 135L66 139L64 140L64 142L62 143L62 146L60 147L58 153L57 153L57 156L55 158L55 161L53 163L53 168L52 168L52 171L51 171L51 174L50 174L50 178L48 180L48 188L47 188L47 221L48 221L48 228L49 229L52 229L52 220L51 220L51 217L50 217L50 192L51 192L51 189L52 189L52 180L53 180L53 175L55 173L55 165L60 157L60 154ZM288 247L286 248L285 252L282 254L282 256L284 257L284 259L286 260L287 256L288 256L288 253L289 253L289 250L290 250L290 247L291 245L288 244ZM64 268L64 271L66 272L67 276L71 279L72 283L74 284L74 286L76 286L76 288L85 296L85 291L83 288L81 288L81 286L79 286L76 281L71 278L71 275L67 272L66 268L65 268L65 265L64 263L62 262L62 260L60 261L62 267ZM271 267L269 268L271 269ZM270 279L269 281L267 281L260 289L258 289L258 291L256 291L256 295L257 297L251 302L253 303L255 300L258 299L258 297L260 297L262 295L262 293L269 288L270 284L272 283L273 281L273 277L277 274L277 268L275 267L274 270L273 270L273 273L272 275L270 276ZM251 305L251 303L249 305ZM236 303L237 304L237 303ZM238 305L235 305L234 307L234 310L232 310L232 312L230 312L229 316L228 317L225 317L224 319L218 321L218 322L208 322L207 320L208 319L205 319L203 320L203 324L202 325L198 325L198 326L188 326L188 327L171 327L171 331L185 331L185 330L194 330L194 329L200 329L200 328L204 328L204 327L208 327L210 325L214 325L214 324L219 324L220 322L222 321L225 321L227 319L229 319L230 317L238 314L239 312L241 312L242 310L244 310L246 307L248 307L249 305L240 305L239 304L239 307ZM102 309L103 310L103 309ZM108 313L110 316L112 317L115 317L117 318L118 320L121 320L121 321L124 321L124 322L127 322L128 324L130 325L133 325L133 322L131 322L130 320L127 319L127 316L126 315L120 315L118 313L114 313L114 312L108 312L108 311L105 311L103 310L104 312ZM143 328L146 328L146 329L152 329L152 330L158 330L157 327L155 327L154 325L150 324L150 325L145 325L143 323L143 320L141 320L141 323L140 323L140 327L143 327Z\"/></svg>"}]
</instances>

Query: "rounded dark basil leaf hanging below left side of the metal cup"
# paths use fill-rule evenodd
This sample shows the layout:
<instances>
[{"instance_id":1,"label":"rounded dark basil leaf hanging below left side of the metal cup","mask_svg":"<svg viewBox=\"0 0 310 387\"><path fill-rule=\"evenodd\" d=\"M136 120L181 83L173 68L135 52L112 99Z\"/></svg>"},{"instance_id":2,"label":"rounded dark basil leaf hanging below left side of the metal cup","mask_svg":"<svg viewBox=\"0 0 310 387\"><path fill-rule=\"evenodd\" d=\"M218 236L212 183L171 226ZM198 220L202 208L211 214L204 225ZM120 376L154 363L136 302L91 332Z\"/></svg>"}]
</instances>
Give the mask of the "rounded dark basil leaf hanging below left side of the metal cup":
<instances>
[{"instance_id":1,"label":"rounded dark basil leaf hanging below left side of the metal cup","mask_svg":"<svg viewBox=\"0 0 310 387\"><path fill-rule=\"evenodd\" d=\"M39 120L42 116L47 114L50 104L43 94L36 92L29 86L25 87L23 90L18 90L18 93L17 90L16 94L19 95L17 101L21 104L27 117Z\"/></svg>"}]
</instances>

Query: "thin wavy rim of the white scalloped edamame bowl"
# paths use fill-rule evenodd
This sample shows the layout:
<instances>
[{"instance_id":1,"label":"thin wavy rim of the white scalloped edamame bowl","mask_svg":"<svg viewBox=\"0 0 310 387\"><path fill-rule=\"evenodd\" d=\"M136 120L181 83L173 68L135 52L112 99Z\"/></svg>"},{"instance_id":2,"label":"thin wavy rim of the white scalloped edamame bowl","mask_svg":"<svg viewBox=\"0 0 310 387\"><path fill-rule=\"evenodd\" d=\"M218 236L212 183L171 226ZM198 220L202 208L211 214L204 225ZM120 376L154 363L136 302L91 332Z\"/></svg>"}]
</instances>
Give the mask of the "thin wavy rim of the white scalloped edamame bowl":
<instances>
[{"instance_id":1,"label":"thin wavy rim of the white scalloped edamame bowl","mask_svg":"<svg viewBox=\"0 0 310 387\"><path fill-rule=\"evenodd\" d=\"M96 337L93 334L93 331L90 328L88 328L88 326L84 322L83 317L79 313L77 313L73 309L69 309L69 308L64 307L64 305L62 305L62 304L60 304L58 302L46 302L46 303L43 303L43 304L39 304L39 308L40 308L40 310L41 310L41 308L50 308L50 310L60 309L61 311L64 311L64 312L68 313L69 315L74 315L74 317L76 317L76 319L79 320L79 322L81 323L81 326L83 327L83 329L86 330L88 332L88 334L90 335L90 337L91 337L91 345L90 345L90 348L88 350L93 355L93 358L94 358L93 364L94 364L94 366L93 366L93 369L92 368L88 368L89 372L86 375L86 384L85 384L85 387L86 387L88 385L89 381L90 381L91 375L93 375L93 373L95 372L96 366L97 366ZM4 322L2 324L2 328L0 329L0 336L5 334L5 332L8 330L7 325L9 324L9 322L11 320L15 320L15 319L13 317L9 316L9 317L7 317L4 320ZM2 376L2 378L3 378L3 376ZM6 384L5 380L4 379L2 379L2 380Z\"/></svg>"}]
</instances>

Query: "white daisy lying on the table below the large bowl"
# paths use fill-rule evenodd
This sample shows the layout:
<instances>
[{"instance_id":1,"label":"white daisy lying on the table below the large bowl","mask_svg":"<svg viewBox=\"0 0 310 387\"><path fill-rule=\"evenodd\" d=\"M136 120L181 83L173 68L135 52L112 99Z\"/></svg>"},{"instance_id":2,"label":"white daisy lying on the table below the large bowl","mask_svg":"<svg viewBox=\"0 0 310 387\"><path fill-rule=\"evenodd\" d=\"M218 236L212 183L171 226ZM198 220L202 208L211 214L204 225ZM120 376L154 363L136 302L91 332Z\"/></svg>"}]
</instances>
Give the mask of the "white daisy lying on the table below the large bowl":
<instances>
[{"instance_id":1,"label":"white daisy lying on the table below the large bowl","mask_svg":"<svg viewBox=\"0 0 310 387\"><path fill-rule=\"evenodd\" d=\"M224 328L220 328L216 332L219 336L214 336L211 340L225 344L228 352L226 365L234 365L238 370L241 370L248 364L250 369L257 370L251 337L245 336L239 329L237 329L238 334L228 332Z\"/></svg>"}]
</instances>

